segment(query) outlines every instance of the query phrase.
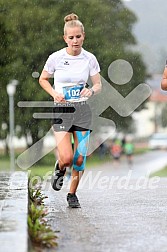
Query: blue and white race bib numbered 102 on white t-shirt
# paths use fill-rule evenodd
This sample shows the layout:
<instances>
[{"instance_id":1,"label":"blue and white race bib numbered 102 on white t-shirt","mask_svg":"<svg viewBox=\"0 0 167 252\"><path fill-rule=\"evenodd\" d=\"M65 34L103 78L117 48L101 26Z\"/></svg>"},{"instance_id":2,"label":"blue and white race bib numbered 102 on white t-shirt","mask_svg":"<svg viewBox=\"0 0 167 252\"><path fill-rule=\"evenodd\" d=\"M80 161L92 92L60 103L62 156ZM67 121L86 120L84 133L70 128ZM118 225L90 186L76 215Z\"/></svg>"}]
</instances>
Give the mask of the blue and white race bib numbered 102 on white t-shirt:
<instances>
[{"instance_id":1,"label":"blue and white race bib numbered 102 on white t-shirt","mask_svg":"<svg viewBox=\"0 0 167 252\"><path fill-rule=\"evenodd\" d=\"M84 88L83 84L76 86L63 87L63 94L65 100L75 100L80 98L80 92Z\"/></svg>"}]
</instances>

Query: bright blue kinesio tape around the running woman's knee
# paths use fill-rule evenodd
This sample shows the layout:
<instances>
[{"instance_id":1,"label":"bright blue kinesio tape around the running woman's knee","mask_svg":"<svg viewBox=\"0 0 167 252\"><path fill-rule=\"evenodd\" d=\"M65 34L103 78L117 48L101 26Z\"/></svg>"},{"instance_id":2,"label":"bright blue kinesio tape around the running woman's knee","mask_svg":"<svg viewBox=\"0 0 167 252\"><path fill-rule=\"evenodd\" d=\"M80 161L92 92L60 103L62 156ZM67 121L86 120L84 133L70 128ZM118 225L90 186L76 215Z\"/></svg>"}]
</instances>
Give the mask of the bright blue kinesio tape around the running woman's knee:
<instances>
[{"instance_id":1,"label":"bright blue kinesio tape around the running woman's knee","mask_svg":"<svg viewBox=\"0 0 167 252\"><path fill-rule=\"evenodd\" d=\"M76 135L78 138L78 147L74 154L73 167L76 171L83 171L85 168L85 163L86 163L86 154L88 150L88 141L89 141L90 131L86 131L84 135L82 135L81 131L76 131ZM77 160L80 155L83 156L83 162L81 166L78 166Z\"/></svg>"}]
</instances>

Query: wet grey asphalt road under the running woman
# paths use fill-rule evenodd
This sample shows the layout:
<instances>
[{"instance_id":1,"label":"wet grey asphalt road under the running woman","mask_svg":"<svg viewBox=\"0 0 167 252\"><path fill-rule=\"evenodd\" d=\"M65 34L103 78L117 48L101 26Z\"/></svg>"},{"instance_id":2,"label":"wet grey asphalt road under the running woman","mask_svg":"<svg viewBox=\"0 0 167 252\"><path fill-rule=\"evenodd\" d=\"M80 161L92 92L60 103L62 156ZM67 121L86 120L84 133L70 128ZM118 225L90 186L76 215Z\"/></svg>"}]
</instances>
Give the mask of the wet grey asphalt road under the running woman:
<instances>
[{"instance_id":1,"label":"wet grey asphalt road under the running woman","mask_svg":"<svg viewBox=\"0 0 167 252\"><path fill-rule=\"evenodd\" d=\"M87 170L77 192L81 209L67 207L68 181L60 192L45 186L48 220L59 231L56 251L166 252L167 179L147 178L164 164L166 152L155 151L136 157L133 167L122 160Z\"/></svg>"}]
</instances>

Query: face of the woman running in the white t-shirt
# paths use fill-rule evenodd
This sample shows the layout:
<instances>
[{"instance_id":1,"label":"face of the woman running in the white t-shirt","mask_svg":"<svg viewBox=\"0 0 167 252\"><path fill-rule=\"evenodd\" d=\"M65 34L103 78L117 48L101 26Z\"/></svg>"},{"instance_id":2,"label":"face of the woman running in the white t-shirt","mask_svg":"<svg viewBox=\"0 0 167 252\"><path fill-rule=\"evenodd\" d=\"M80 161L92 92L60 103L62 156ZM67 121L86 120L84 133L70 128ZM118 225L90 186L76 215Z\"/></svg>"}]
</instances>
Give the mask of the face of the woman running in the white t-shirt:
<instances>
[{"instance_id":1,"label":"face of the woman running in the white t-shirt","mask_svg":"<svg viewBox=\"0 0 167 252\"><path fill-rule=\"evenodd\" d=\"M84 38L85 33L82 32L79 26L72 28L68 27L64 35L64 40L68 46L67 52L71 55L80 54Z\"/></svg>"}]
</instances>

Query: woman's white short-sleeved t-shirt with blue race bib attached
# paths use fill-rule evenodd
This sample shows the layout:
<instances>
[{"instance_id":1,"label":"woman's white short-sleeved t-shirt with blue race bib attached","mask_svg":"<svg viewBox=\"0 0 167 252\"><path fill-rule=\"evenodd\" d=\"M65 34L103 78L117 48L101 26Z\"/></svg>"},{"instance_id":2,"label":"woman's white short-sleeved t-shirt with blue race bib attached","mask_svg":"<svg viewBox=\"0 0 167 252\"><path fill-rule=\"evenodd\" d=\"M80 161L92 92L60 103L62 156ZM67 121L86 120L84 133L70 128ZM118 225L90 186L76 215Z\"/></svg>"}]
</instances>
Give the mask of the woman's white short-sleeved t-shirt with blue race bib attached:
<instances>
[{"instance_id":1,"label":"woman's white short-sleeved t-shirt with blue race bib attached","mask_svg":"<svg viewBox=\"0 0 167 252\"><path fill-rule=\"evenodd\" d=\"M67 53L66 48L52 53L44 66L49 74L54 74L54 89L65 95L66 100L83 101L79 93L87 83L89 76L100 72L96 57L81 49L81 53L72 56Z\"/></svg>"}]
</instances>

